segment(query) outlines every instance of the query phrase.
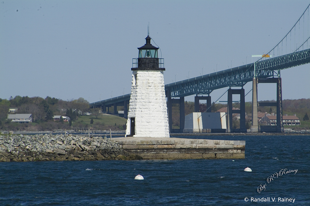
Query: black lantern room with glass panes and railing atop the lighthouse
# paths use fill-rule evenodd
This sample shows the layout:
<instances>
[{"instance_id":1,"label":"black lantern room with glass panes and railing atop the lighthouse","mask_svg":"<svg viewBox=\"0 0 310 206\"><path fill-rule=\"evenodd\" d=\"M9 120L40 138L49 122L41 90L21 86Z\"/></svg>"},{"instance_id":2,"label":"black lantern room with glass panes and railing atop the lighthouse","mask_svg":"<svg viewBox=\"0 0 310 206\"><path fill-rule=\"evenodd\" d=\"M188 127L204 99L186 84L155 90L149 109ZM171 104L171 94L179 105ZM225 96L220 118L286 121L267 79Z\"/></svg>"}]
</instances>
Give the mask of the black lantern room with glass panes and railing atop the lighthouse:
<instances>
[{"instance_id":1,"label":"black lantern room with glass panes and railing atop the lighthouse","mask_svg":"<svg viewBox=\"0 0 310 206\"><path fill-rule=\"evenodd\" d=\"M163 65L163 59L158 58L157 47L151 44L151 37L148 35L146 38L146 43L139 49L139 58L134 58L136 60L135 68L131 68L132 71L136 70L160 70L165 71L165 68L160 68L159 65Z\"/></svg>"}]
</instances>

